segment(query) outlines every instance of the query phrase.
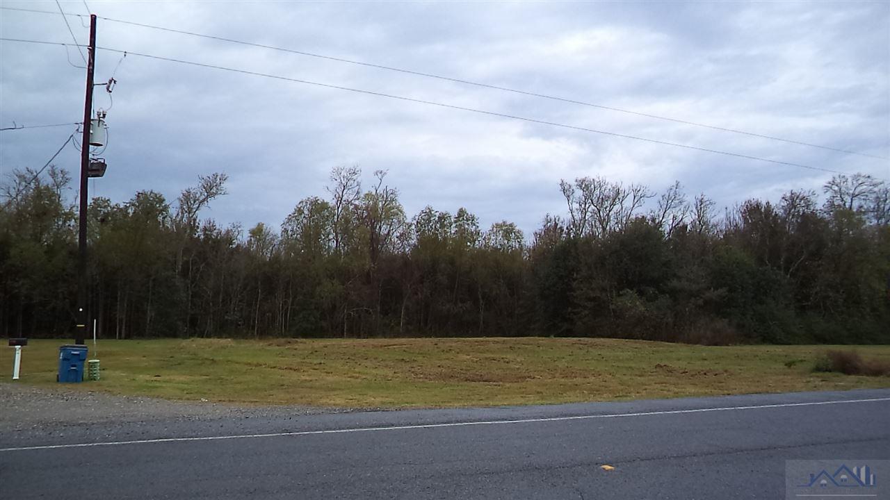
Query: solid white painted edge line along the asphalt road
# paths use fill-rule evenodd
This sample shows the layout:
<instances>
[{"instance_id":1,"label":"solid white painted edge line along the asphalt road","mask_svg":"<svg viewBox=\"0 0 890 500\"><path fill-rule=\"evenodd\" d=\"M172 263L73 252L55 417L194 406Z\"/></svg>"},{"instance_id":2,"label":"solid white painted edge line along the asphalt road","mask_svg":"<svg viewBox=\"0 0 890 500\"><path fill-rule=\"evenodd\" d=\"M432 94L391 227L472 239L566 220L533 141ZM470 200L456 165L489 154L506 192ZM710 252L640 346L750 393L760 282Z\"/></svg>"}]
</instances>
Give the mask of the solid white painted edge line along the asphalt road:
<instances>
[{"instance_id":1,"label":"solid white painted edge line along the asphalt road","mask_svg":"<svg viewBox=\"0 0 890 500\"><path fill-rule=\"evenodd\" d=\"M45 445L35 447L20 448L0 448L0 453L11 451L26 451L32 449L56 449L56 448L92 448L101 446L120 446L120 445L141 445L148 443L174 443L179 441L214 441L214 440L243 440L254 438L276 438L279 436L310 436L313 434L344 434L346 432L372 432L372 431L404 431L408 429L435 429L438 427L463 427L467 425L500 425L505 423L535 423L535 422L562 422L566 420L590 420L595 418L621 418L627 416L649 416L649 415L679 415L686 413L704 413L715 411L732 411L732 410L754 410L765 408L783 408L783 407L815 407L821 405L841 405L850 403L870 403L875 401L890 401L890 398L871 398L871 399L839 399L834 401L813 401L808 403L777 403L773 405L756 405L751 407L712 407L712 408L693 408L686 410L665 410L665 411L648 411L638 413L618 413L605 415L576 415L576 416L553 416L548 418L523 418L520 420L487 420L478 422L454 422L454 423L418 423L415 425L392 425L387 427L357 427L354 429L329 429L327 431L287 431L287 432L270 432L266 434L239 434L233 436L206 436L196 438L160 438L158 440L131 440L131 441L106 441L98 443L75 443L69 445Z\"/></svg>"}]
</instances>

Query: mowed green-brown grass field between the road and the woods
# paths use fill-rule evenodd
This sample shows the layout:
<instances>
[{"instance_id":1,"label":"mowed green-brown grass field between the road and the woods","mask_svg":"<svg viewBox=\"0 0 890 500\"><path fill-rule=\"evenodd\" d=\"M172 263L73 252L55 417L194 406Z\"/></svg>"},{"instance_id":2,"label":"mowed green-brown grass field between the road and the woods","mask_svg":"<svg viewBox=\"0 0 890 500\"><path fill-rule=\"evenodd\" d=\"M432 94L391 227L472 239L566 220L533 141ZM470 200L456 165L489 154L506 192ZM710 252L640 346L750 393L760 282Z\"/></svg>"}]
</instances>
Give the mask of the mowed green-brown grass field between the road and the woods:
<instances>
[{"instance_id":1,"label":"mowed green-brown grass field between the road and the woods","mask_svg":"<svg viewBox=\"0 0 890 500\"><path fill-rule=\"evenodd\" d=\"M55 386L63 340L23 348L18 383ZM92 343L90 357L95 356ZM101 381L166 399L320 407L459 407L890 387L890 376L813 373L829 349L890 360L890 346L706 347L613 339L100 341ZM12 348L0 350L12 383Z\"/></svg>"}]
</instances>

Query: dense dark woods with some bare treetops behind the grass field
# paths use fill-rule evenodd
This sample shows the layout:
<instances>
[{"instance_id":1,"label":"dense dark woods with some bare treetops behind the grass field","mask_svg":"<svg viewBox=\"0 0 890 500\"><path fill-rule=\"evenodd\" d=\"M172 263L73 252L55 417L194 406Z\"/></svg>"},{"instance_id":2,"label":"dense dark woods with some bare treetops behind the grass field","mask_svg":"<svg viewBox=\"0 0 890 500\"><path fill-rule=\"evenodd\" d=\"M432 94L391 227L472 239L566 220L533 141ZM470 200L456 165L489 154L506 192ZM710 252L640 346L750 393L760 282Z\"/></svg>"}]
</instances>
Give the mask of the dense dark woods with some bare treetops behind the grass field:
<instances>
[{"instance_id":1,"label":"dense dark woods with some bare treetops behind the grass field","mask_svg":"<svg viewBox=\"0 0 890 500\"><path fill-rule=\"evenodd\" d=\"M33 179L33 181L32 181ZM717 214L662 193L562 181L562 215L523 235L464 208L406 214L376 172L338 167L280 228L202 221L214 173L173 203L89 208L89 311L104 338L575 335L690 343L890 343L890 189L837 175ZM557 189L557 186L554 186ZM69 174L13 173L0 212L0 329L69 336Z\"/></svg>"}]
</instances>

